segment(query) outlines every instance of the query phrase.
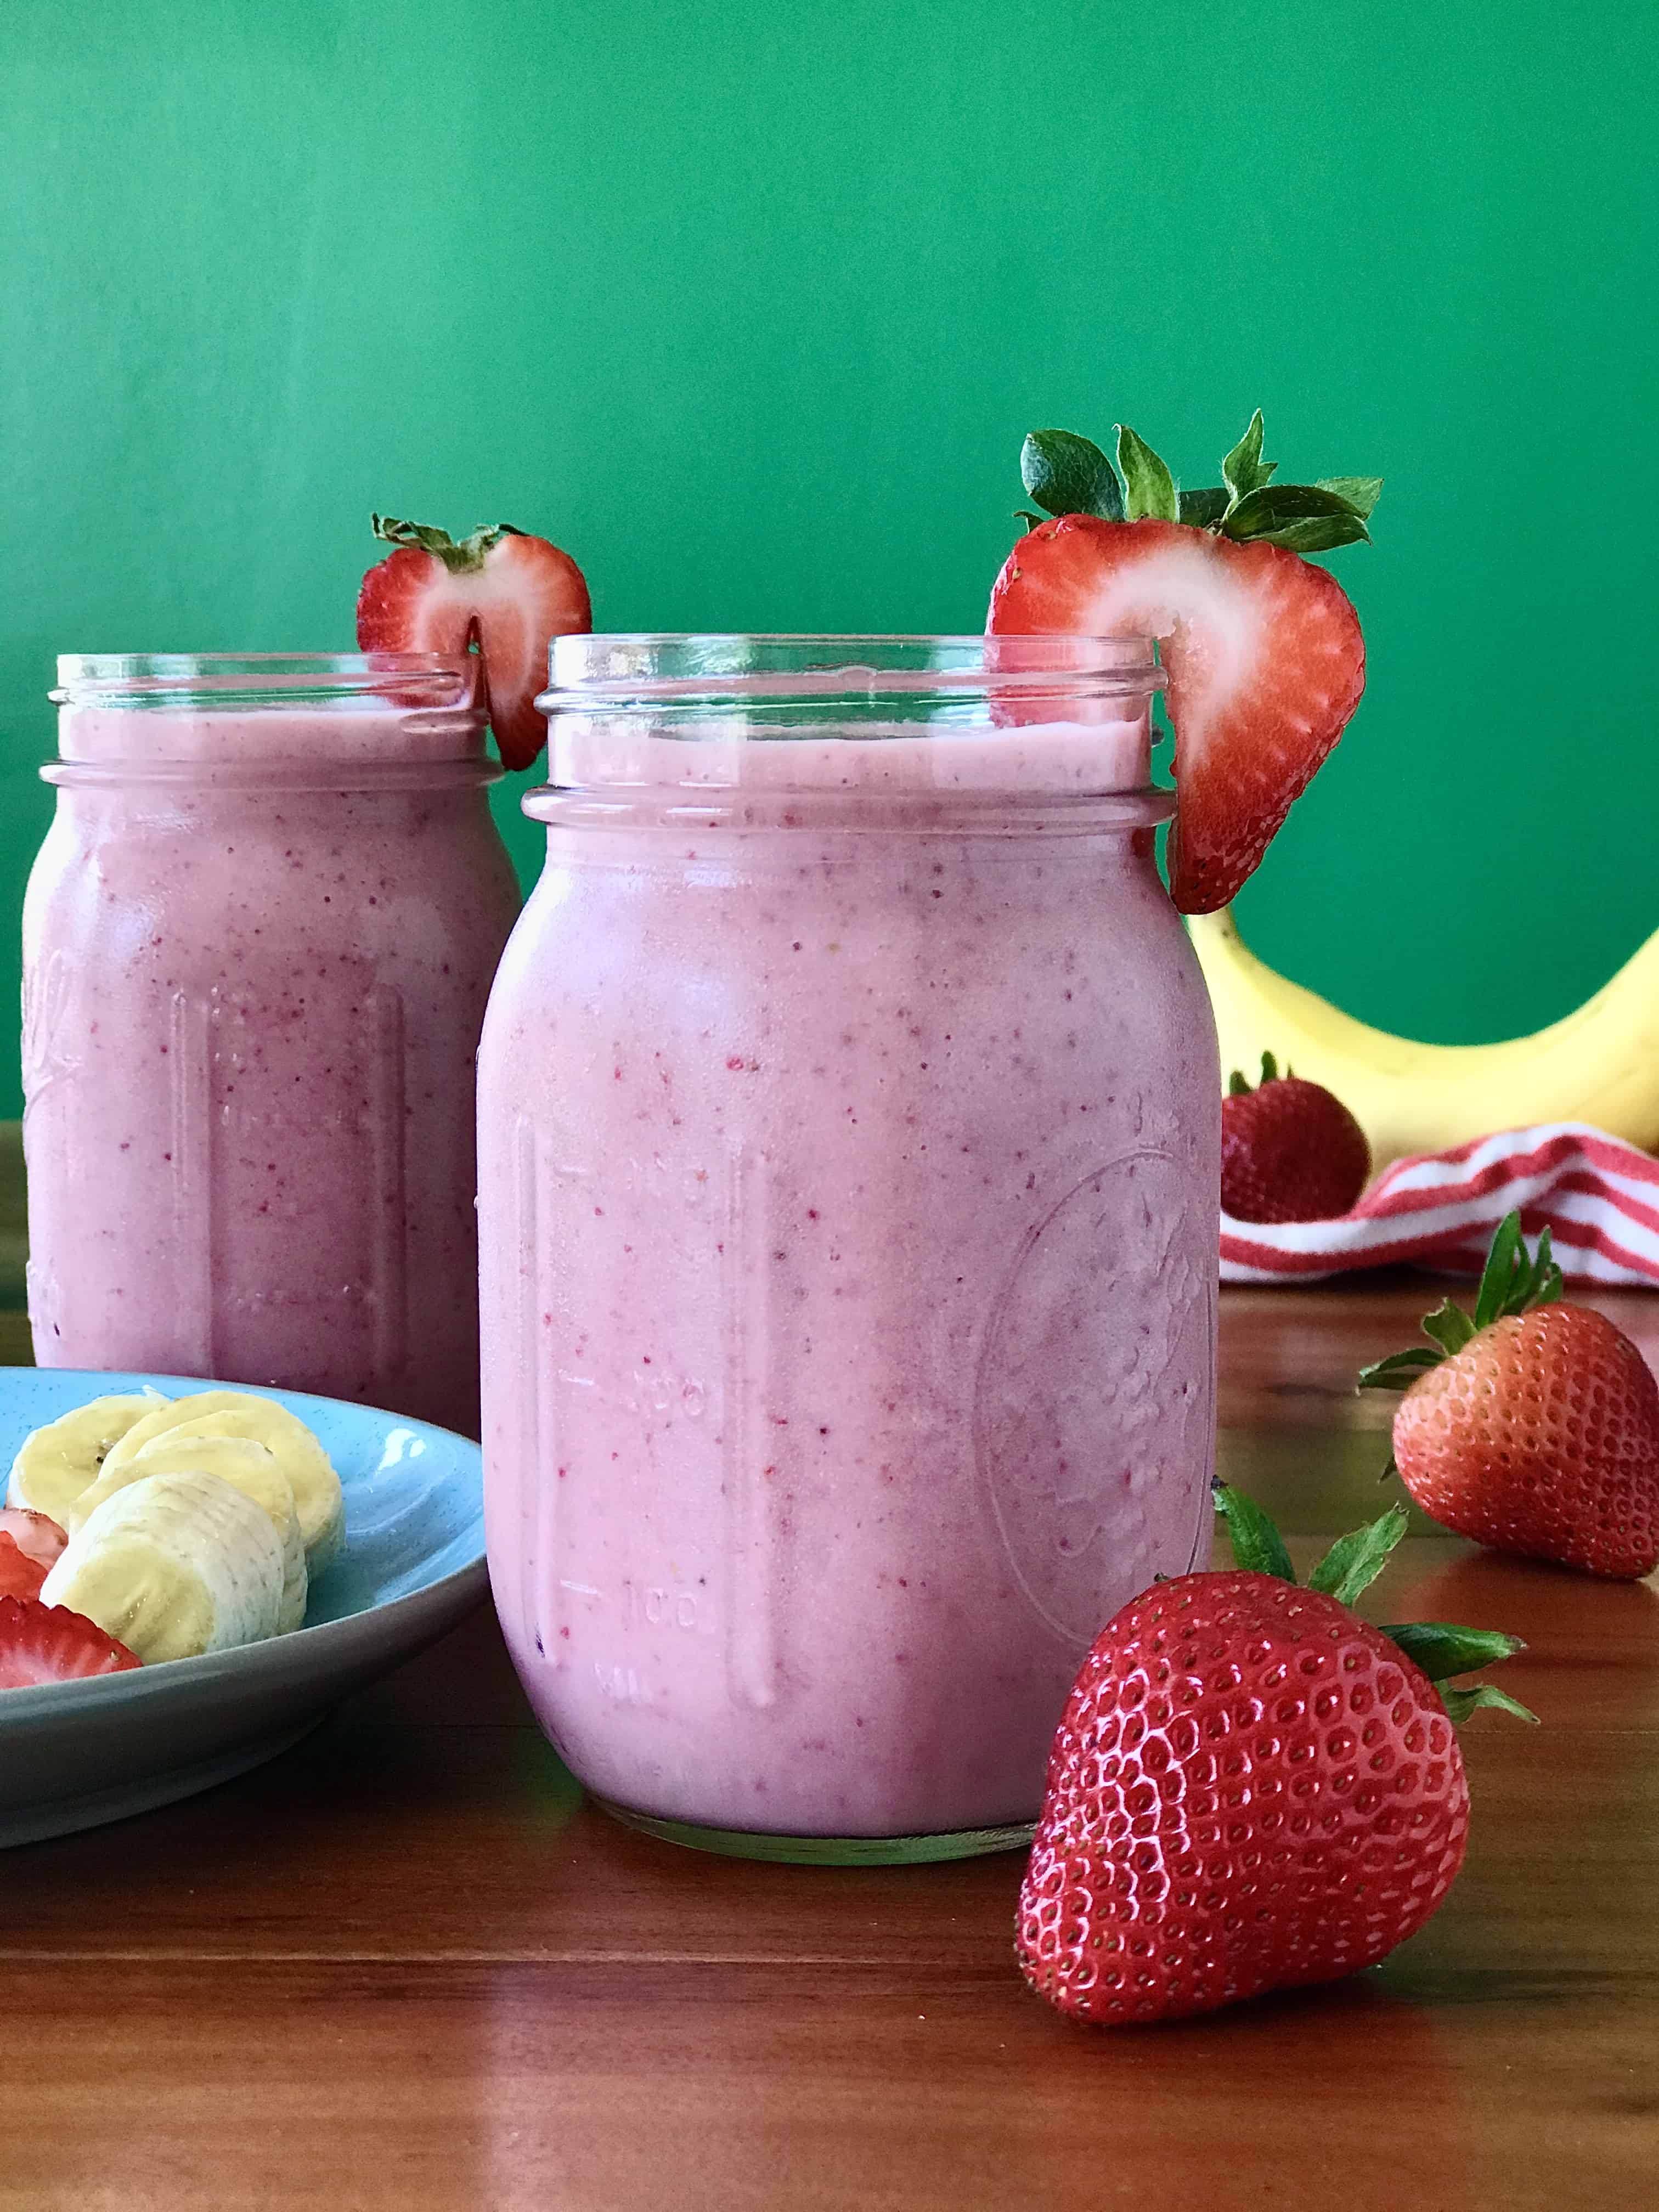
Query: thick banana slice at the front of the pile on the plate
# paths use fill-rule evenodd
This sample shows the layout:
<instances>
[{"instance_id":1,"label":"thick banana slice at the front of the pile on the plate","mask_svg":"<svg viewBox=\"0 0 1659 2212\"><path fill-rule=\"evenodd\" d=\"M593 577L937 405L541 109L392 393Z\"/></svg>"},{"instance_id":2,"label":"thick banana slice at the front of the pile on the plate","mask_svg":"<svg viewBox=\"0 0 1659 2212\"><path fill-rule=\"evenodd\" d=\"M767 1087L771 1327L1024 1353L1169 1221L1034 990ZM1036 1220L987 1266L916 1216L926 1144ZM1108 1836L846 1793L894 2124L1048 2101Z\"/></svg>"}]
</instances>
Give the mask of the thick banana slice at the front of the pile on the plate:
<instances>
[{"instance_id":1,"label":"thick banana slice at the front of the pile on the plate","mask_svg":"<svg viewBox=\"0 0 1659 2212\"><path fill-rule=\"evenodd\" d=\"M283 1546L221 1475L144 1475L86 1517L40 1590L146 1666L276 1635Z\"/></svg>"}]
</instances>

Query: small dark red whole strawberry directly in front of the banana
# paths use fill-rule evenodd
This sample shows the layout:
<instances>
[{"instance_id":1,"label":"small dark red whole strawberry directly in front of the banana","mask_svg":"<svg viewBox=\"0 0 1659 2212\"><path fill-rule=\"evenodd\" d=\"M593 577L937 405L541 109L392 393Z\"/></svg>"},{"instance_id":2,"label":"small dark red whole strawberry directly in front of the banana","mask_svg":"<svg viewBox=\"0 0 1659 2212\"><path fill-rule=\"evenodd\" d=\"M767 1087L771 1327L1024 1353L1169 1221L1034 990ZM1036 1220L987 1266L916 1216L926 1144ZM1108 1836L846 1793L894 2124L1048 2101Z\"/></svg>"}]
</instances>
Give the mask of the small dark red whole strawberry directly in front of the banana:
<instances>
[{"instance_id":1,"label":"small dark red whole strawberry directly in front of the banana","mask_svg":"<svg viewBox=\"0 0 1659 2212\"><path fill-rule=\"evenodd\" d=\"M1371 1179L1371 1146L1323 1084L1261 1055L1261 1088L1234 1068L1221 1099L1221 1212L1234 1221L1329 1221Z\"/></svg>"}]
</instances>

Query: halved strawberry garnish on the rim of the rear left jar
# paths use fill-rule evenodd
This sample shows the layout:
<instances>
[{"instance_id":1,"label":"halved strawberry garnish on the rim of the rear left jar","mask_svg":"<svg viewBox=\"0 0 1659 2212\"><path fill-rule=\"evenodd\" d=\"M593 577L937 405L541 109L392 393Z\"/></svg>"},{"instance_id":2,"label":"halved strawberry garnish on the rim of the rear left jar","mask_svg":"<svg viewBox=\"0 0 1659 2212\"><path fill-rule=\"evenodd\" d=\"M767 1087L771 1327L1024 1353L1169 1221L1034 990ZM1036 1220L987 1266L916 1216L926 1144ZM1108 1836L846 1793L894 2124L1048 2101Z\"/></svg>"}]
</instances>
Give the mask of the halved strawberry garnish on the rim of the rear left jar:
<instances>
[{"instance_id":1,"label":"halved strawberry garnish on the rim of the rear left jar","mask_svg":"<svg viewBox=\"0 0 1659 2212\"><path fill-rule=\"evenodd\" d=\"M546 690L553 637L593 628L582 571L546 538L511 522L449 531L374 515L374 535L396 546L367 571L356 599L365 653L465 653L484 657L489 726L507 768L529 768L546 743L535 695Z\"/></svg>"}]
</instances>

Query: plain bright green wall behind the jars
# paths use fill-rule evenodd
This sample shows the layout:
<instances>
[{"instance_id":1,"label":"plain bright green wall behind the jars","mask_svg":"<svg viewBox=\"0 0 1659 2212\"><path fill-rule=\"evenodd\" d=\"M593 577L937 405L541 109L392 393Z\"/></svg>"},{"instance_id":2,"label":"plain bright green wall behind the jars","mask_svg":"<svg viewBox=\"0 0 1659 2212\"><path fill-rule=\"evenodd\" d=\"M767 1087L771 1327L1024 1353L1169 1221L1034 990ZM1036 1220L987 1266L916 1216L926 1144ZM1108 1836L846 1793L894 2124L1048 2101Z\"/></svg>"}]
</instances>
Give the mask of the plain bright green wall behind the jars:
<instances>
[{"instance_id":1,"label":"plain bright green wall behind the jars","mask_svg":"<svg viewBox=\"0 0 1659 2212\"><path fill-rule=\"evenodd\" d=\"M978 628L1029 427L1212 482L1261 403L1387 491L1248 936L1555 1018L1659 925L1655 22L11 0L0 958L53 655L345 646L374 507L546 531L599 628Z\"/></svg>"}]
</instances>

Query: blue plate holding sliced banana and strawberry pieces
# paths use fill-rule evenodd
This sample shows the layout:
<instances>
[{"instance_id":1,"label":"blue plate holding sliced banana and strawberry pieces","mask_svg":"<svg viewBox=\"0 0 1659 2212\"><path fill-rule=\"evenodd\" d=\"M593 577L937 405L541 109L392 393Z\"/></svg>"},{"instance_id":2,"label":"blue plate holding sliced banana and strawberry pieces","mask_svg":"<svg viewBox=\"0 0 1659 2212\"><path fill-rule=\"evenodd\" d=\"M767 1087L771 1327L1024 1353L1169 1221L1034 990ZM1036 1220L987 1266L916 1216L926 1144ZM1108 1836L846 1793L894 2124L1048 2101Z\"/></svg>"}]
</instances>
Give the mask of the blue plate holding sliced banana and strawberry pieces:
<instances>
[{"instance_id":1,"label":"blue plate holding sliced banana and strawberry pieces","mask_svg":"<svg viewBox=\"0 0 1659 2212\"><path fill-rule=\"evenodd\" d=\"M268 1644L0 1690L0 1845L122 1820L246 1774L469 1613L489 1588L478 1444L338 1398L181 1376L0 1367L0 1475L60 1413L150 1383L168 1398L257 1389L316 1431L345 1491L345 1555L305 1626Z\"/></svg>"}]
</instances>

